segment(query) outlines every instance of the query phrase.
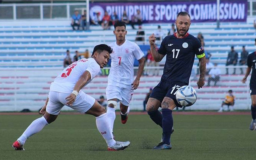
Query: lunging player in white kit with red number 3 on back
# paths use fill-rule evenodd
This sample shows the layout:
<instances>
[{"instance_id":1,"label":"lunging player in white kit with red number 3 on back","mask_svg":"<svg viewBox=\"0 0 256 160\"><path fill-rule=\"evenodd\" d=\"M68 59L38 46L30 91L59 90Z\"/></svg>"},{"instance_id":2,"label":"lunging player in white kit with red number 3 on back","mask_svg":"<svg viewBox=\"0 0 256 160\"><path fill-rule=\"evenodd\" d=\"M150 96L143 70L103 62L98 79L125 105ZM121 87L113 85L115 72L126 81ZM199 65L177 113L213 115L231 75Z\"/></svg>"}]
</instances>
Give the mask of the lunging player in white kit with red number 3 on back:
<instances>
[{"instance_id":1,"label":"lunging player in white kit with red number 3 on back","mask_svg":"<svg viewBox=\"0 0 256 160\"><path fill-rule=\"evenodd\" d=\"M106 140L109 151L123 150L128 147L130 142L116 142L113 139L104 107L81 90L98 74L100 68L108 63L110 53L112 53L111 47L99 44L95 46L91 58L80 59L65 68L50 86L45 106L40 111L44 114L43 117L34 120L12 147L15 150L24 150L23 145L26 140L55 121L64 105L96 117L97 129Z\"/></svg>"}]
</instances>

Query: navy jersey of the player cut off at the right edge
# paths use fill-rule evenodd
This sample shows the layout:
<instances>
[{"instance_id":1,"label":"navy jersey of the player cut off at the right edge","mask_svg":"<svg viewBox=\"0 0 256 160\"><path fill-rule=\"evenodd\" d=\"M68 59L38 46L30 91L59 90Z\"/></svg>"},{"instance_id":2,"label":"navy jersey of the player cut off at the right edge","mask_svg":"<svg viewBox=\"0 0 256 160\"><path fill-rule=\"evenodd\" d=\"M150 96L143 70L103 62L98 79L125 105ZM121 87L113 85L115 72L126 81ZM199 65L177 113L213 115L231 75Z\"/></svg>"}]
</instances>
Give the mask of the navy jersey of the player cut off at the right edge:
<instances>
[{"instance_id":1,"label":"navy jersey of the player cut off at the right edge","mask_svg":"<svg viewBox=\"0 0 256 160\"><path fill-rule=\"evenodd\" d=\"M256 87L256 51L250 53L247 57L247 66L252 68L252 75L250 77L250 85Z\"/></svg>"}]
</instances>

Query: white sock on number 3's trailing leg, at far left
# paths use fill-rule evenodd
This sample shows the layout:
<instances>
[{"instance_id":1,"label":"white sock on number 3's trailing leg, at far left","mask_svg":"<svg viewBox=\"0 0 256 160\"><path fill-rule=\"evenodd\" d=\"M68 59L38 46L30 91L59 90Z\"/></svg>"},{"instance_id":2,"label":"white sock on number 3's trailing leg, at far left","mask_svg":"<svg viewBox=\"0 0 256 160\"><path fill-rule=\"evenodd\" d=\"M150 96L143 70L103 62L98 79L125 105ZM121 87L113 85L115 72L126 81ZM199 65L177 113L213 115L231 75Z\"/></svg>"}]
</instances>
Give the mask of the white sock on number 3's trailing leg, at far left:
<instances>
[{"instance_id":1,"label":"white sock on number 3's trailing leg, at far left","mask_svg":"<svg viewBox=\"0 0 256 160\"><path fill-rule=\"evenodd\" d=\"M23 132L20 138L18 138L19 142L21 144L24 144L26 140L30 138L30 136L40 132L46 125L48 125L48 122L45 120L44 117L37 118L28 126L28 128Z\"/></svg>"}]
</instances>

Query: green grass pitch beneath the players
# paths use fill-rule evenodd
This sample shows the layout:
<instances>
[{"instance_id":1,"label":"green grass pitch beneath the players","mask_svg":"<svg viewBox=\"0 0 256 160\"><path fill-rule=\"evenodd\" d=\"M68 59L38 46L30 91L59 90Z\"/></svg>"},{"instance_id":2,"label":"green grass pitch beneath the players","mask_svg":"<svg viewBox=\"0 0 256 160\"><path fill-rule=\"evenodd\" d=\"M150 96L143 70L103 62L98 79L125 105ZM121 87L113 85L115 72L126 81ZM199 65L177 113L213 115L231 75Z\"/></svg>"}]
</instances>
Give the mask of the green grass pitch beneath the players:
<instances>
[{"instance_id":1,"label":"green grass pitch beneath the players","mask_svg":"<svg viewBox=\"0 0 256 160\"><path fill-rule=\"evenodd\" d=\"M256 131L249 130L249 115L174 115L173 149L151 148L161 139L161 129L147 115L130 115L125 125L115 121L115 137L129 140L124 151L106 151L107 145L90 115L60 115L27 140L26 151L15 151L12 143L39 115L0 115L1 160L226 160L254 159Z\"/></svg>"}]
</instances>

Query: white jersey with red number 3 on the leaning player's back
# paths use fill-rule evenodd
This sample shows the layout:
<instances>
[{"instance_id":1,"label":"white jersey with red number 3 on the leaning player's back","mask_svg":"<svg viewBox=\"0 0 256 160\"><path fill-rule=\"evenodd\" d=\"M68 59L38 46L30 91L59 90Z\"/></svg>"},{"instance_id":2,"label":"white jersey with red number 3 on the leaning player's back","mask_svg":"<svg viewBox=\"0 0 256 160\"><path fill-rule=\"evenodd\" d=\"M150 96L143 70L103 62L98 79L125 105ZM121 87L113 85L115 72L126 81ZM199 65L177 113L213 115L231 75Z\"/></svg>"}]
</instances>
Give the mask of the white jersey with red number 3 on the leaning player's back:
<instances>
[{"instance_id":1,"label":"white jersey with red number 3 on the leaning player's back","mask_svg":"<svg viewBox=\"0 0 256 160\"><path fill-rule=\"evenodd\" d=\"M93 58L83 58L70 64L55 78L54 82L52 82L50 91L72 93L76 82L86 70L90 72L92 80L100 72L100 65L98 65ZM90 81L88 81L85 86Z\"/></svg>"}]
</instances>

